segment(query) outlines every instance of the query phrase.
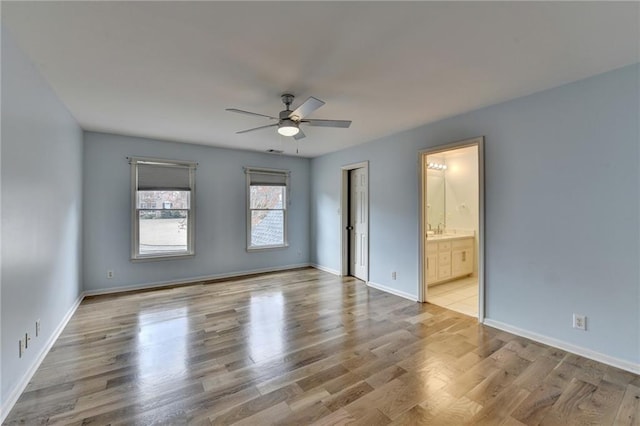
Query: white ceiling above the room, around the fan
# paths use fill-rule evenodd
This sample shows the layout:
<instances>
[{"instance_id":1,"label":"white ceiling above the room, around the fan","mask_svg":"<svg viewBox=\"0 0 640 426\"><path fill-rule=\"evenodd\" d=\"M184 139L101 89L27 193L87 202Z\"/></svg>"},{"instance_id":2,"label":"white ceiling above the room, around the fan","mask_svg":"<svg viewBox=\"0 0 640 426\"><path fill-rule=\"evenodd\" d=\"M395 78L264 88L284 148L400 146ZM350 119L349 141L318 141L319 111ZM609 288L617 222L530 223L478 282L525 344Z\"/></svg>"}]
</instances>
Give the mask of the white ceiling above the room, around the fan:
<instances>
[{"instance_id":1,"label":"white ceiling above the room, around the fan","mask_svg":"<svg viewBox=\"0 0 640 426\"><path fill-rule=\"evenodd\" d=\"M314 157L640 62L640 3L2 2L2 21L87 130L295 154L232 114L326 105Z\"/></svg>"}]
</instances>

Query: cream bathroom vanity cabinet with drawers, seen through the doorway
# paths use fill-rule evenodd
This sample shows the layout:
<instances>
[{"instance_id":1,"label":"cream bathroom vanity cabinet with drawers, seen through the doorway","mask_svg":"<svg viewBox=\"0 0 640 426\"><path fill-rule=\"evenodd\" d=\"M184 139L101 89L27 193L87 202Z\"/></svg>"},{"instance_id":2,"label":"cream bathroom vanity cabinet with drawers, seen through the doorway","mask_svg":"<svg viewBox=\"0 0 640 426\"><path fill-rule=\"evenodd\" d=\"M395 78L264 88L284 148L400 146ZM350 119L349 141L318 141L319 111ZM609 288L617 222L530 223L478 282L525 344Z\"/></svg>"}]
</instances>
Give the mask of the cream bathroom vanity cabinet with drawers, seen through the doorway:
<instances>
[{"instance_id":1,"label":"cream bathroom vanity cabinet with drawers, seen through the doorway","mask_svg":"<svg viewBox=\"0 0 640 426\"><path fill-rule=\"evenodd\" d=\"M427 284L473 273L473 237L427 241Z\"/></svg>"}]
</instances>

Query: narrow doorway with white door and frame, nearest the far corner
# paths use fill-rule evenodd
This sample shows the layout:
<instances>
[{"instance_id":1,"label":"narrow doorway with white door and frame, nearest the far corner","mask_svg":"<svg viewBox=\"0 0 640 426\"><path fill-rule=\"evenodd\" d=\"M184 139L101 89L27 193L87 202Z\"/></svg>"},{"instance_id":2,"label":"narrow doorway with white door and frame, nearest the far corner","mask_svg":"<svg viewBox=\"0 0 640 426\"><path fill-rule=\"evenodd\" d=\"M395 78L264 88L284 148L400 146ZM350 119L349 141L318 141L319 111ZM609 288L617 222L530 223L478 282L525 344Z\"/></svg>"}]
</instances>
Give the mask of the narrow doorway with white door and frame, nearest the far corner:
<instances>
[{"instance_id":1,"label":"narrow doorway with white door and frame, nearest the far corner","mask_svg":"<svg viewBox=\"0 0 640 426\"><path fill-rule=\"evenodd\" d=\"M341 274L369 280L369 163L342 167Z\"/></svg>"}]
</instances>

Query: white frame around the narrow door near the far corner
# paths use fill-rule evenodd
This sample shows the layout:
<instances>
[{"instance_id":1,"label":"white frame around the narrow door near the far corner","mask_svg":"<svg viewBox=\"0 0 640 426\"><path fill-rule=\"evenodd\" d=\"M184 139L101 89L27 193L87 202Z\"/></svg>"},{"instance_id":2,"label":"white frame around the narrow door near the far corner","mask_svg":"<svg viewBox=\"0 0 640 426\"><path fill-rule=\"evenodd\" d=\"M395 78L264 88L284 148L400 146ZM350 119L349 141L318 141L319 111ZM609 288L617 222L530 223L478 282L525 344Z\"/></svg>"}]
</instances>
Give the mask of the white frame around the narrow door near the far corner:
<instances>
[{"instance_id":1,"label":"white frame around the narrow door near the far corner","mask_svg":"<svg viewBox=\"0 0 640 426\"><path fill-rule=\"evenodd\" d=\"M369 161L361 161L359 163L347 164L341 168L341 186L340 186L340 276L349 275L349 232L347 226L349 225L349 172L355 169L364 169L364 173L367 177L367 244L365 247L367 253L367 268L365 274L365 282L369 282L369 265L371 263L369 258L369 231L371 225L369 224Z\"/></svg>"}]
</instances>

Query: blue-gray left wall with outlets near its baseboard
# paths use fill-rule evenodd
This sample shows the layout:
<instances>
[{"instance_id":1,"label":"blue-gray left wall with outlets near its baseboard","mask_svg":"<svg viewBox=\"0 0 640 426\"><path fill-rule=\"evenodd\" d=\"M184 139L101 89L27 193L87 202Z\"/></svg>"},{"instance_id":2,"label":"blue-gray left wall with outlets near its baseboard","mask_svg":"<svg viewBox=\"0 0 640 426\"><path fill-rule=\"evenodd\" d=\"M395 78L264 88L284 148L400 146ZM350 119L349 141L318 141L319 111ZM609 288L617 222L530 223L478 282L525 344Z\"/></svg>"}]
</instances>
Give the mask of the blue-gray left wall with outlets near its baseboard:
<instances>
[{"instance_id":1,"label":"blue-gray left wall with outlets near its baseboard","mask_svg":"<svg viewBox=\"0 0 640 426\"><path fill-rule=\"evenodd\" d=\"M82 131L4 28L1 139L4 407L81 293L82 225Z\"/></svg>"}]
</instances>

